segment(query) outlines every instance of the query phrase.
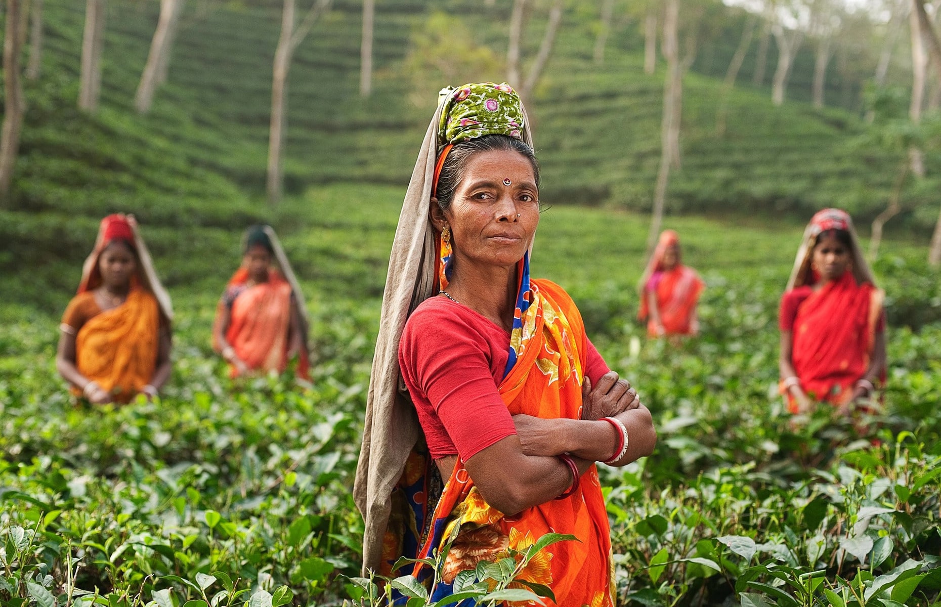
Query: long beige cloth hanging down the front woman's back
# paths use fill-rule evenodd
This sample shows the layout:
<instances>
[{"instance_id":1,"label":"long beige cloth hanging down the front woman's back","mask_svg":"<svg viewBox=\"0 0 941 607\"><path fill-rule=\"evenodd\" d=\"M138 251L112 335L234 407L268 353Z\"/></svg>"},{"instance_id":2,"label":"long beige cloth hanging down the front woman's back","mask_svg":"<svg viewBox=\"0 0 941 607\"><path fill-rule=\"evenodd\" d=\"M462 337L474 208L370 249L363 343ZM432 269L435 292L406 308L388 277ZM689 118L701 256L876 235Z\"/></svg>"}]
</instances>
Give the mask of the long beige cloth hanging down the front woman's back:
<instances>
[{"instance_id":1,"label":"long beige cloth hanging down the front woman's back","mask_svg":"<svg viewBox=\"0 0 941 607\"><path fill-rule=\"evenodd\" d=\"M392 242L369 381L362 449L353 487L353 498L366 523L362 550L364 573L379 567L382 540L391 513L392 490L405 470L408 454L422 434L415 407L399 373L399 340L408 315L425 299L436 295L433 291L438 236L429 216L431 189L439 147L448 143L439 140L441 114L448 105L448 98L459 91L459 88L442 91L444 96L424 134ZM523 115L525 117L525 109ZM532 147L528 125L527 119L521 136Z\"/></svg>"}]
</instances>

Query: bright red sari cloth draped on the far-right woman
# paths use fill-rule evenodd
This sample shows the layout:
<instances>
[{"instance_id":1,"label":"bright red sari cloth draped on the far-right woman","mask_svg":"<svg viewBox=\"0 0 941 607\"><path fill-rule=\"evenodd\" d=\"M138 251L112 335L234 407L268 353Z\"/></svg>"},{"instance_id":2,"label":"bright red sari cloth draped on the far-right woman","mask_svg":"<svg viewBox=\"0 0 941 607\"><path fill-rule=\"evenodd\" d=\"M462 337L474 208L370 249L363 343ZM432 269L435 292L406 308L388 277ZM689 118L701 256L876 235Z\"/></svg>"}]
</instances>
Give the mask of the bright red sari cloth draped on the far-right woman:
<instances>
[{"instance_id":1,"label":"bright red sari cloth draped on the far-right woman","mask_svg":"<svg viewBox=\"0 0 941 607\"><path fill-rule=\"evenodd\" d=\"M808 395L834 405L850 401L853 385L869 369L882 300L882 291L845 272L801 303L791 361ZM789 409L797 412L796 404Z\"/></svg>"}]
</instances>

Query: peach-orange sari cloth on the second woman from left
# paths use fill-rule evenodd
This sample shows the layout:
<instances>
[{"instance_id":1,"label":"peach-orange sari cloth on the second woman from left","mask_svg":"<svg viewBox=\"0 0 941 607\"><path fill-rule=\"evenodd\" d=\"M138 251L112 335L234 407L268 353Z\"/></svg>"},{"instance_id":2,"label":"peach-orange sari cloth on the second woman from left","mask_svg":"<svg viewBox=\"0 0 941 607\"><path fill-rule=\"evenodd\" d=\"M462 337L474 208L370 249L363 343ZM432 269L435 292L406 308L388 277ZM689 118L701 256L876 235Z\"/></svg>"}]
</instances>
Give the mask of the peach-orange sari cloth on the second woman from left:
<instances>
[{"instance_id":1,"label":"peach-orange sari cloth on the second woman from left","mask_svg":"<svg viewBox=\"0 0 941 607\"><path fill-rule=\"evenodd\" d=\"M229 280L228 286L242 285L247 280L247 269L240 268ZM236 356L246 363L248 369L283 373L287 367L288 350L291 346L288 341L291 293L291 284L278 272L271 270L266 282L247 287L232 302L226 341L235 350ZM224 302L219 302L219 311L224 305ZM218 313L215 322L219 322ZM301 351L300 357L297 375L307 378L307 352ZM234 366L230 366L230 375L238 375Z\"/></svg>"}]
</instances>

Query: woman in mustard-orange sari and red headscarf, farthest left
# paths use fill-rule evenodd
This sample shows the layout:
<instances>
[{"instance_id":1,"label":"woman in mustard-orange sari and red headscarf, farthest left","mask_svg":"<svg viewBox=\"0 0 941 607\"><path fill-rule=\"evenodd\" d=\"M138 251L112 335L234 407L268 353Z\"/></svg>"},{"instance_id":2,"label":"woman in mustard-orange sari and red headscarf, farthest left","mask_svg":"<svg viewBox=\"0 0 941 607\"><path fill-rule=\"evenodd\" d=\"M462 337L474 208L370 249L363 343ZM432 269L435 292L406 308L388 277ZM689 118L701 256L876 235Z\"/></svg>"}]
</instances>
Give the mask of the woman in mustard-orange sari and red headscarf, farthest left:
<instances>
[{"instance_id":1,"label":"woman in mustard-orange sari and red headscarf, farthest left","mask_svg":"<svg viewBox=\"0 0 941 607\"><path fill-rule=\"evenodd\" d=\"M134 216L104 217L62 318L56 368L93 404L152 398L170 375L172 317Z\"/></svg>"}]
</instances>

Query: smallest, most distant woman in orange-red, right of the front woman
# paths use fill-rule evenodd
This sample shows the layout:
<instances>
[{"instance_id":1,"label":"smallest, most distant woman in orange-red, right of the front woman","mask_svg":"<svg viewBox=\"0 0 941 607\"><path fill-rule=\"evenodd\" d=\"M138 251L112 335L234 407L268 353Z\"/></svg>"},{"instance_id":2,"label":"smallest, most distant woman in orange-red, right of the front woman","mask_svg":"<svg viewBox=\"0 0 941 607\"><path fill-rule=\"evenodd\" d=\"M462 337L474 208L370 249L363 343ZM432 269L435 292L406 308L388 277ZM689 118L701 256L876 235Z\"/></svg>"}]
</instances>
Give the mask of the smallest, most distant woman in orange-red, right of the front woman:
<instances>
[{"instance_id":1,"label":"smallest, most distant woman in orange-red, right of the front woman","mask_svg":"<svg viewBox=\"0 0 941 607\"><path fill-rule=\"evenodd\" d=\"M682 264L677 232L661 233L640 284L638 318L647 321L647 335L695 335L699 332L696 303L705 285L692 267Z\"/></svg>"}]
</instances>

